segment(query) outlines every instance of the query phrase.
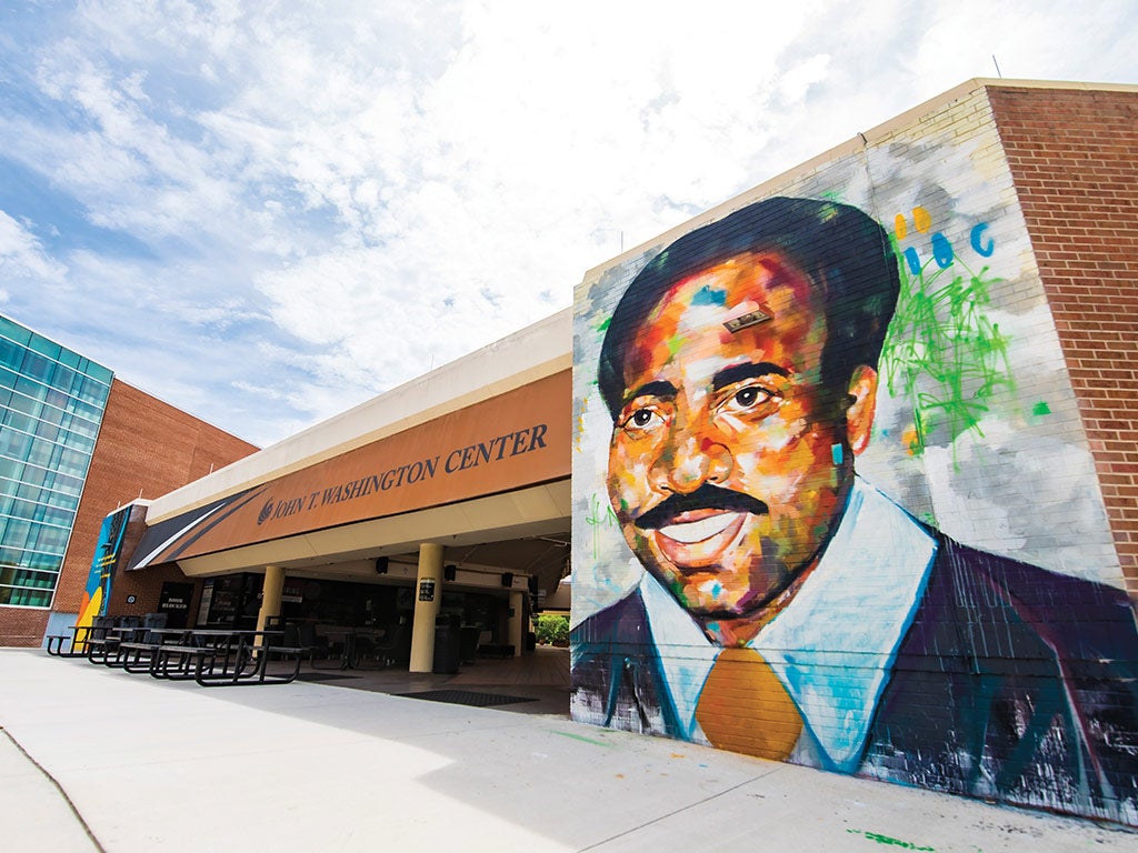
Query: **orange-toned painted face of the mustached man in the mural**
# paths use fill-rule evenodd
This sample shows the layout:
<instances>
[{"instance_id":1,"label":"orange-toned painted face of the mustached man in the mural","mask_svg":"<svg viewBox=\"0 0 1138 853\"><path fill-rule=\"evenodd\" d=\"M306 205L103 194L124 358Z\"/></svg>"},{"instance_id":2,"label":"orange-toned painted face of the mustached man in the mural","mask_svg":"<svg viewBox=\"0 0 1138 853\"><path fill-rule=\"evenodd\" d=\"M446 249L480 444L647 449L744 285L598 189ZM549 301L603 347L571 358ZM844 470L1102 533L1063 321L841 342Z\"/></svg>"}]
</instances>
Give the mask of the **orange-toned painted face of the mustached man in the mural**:
<instances>
[{"instance_id":1,"label":"orange-toned painted face of the mustached man in the mural","mask_svg":"<svg viewBox=\"0 0 1138 853\"><path fill-rule=\"evenodd\" d=\"M673 284L625 350L609 496L637 557L698 618L764 607L843 511L876 374L822 384L818 303L777 252L739 255ZM756 308L772 318L724 328Z\"/></svg>"}]
</instances>

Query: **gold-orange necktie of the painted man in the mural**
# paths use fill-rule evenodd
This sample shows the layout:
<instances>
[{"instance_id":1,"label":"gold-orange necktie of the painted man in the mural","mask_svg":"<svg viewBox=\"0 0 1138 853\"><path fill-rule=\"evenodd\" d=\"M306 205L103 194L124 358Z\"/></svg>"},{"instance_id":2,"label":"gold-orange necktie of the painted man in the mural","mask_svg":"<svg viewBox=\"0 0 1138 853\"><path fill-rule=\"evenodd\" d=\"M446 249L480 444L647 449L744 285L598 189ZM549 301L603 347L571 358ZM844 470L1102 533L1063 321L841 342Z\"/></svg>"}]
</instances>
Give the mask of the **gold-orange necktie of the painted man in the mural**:
<instances>
[{"instance_id":1,"label":"gold-orange necktie of the painted man in the mural","mask_svg":"<svg viewBox=\"0 0 1138 853\"><path fill-rule=\"evenodd\" d=\"M783 761L799 735L802 715L782 681L753 648L725 648L703 684L695 720L711 745Z\"/></svg>"}]
</instances>

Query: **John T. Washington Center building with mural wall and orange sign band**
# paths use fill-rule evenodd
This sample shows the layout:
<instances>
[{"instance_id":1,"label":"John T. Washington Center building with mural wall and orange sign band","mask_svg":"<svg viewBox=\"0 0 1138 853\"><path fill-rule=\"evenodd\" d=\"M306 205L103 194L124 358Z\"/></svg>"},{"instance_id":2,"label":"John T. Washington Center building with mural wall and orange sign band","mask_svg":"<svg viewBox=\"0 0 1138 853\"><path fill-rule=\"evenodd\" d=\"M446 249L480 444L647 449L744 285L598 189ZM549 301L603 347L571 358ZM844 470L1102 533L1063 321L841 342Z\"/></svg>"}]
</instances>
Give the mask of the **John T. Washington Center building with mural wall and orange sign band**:
<instances>
[{"instance_id":1,"label":"John T. Washington Center building with mural wall and orange sign band","mask_svg":"<svg viewBox=\"0 0 1138 853\"><path fill-rule=\"evenodd\" d=\"M1136 118L971 81L156 497L110 599L430 671L571 564L579 721L1138 825Z\"/></svg>"}]
</instances>

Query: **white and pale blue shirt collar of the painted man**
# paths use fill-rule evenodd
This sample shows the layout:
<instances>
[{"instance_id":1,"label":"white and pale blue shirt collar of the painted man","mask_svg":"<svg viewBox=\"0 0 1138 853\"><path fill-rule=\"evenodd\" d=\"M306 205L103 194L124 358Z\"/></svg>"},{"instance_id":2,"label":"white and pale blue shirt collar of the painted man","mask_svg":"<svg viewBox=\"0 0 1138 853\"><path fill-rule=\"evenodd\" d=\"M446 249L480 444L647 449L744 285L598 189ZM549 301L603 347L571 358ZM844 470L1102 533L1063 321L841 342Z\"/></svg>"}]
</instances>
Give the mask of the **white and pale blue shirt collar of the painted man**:
<instances>
[{"instance_id":1,"label":"white and pale blue shirt collar of the painted man","mask_svg":"<svg viewBox=\"0 0 1138 853\"><path fill-rule=\"evenodd\" d=\"M802 714L805 734L792 757L857 768L935 553L935 539L908 513L855 479L818 565L750 644ZM682 734L706 742L695 705L719 648L648 572L640 589Z\"/></svg>"}]
</instances>

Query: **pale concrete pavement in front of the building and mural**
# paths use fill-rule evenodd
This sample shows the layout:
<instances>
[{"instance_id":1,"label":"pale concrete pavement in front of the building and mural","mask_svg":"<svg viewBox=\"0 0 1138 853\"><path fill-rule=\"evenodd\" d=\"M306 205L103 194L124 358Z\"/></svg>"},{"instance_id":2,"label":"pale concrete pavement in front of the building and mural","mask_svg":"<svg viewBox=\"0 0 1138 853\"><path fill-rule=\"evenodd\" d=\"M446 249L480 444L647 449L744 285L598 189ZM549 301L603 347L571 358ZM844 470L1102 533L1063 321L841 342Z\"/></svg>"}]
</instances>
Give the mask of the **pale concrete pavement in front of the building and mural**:
<instances>
[{"instance_id":1,"label":"pale concrete pavement in front of the building and mural","mask_svg":"<svg viewBox=\"0 0 1138 853\"><path fill-rule=\"evenodd\" d=\"M1138 848L558 715L335 682L207 689L40 651L0 649L0 848L18 853Z\"/></svg>"}]
</instances>

